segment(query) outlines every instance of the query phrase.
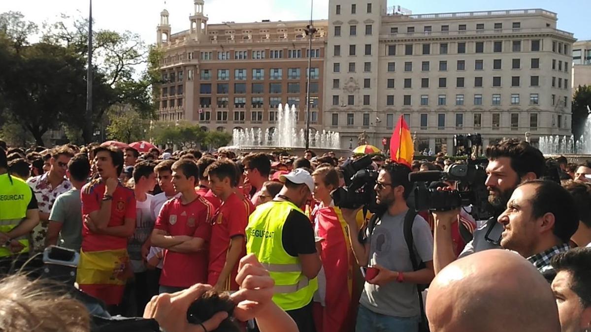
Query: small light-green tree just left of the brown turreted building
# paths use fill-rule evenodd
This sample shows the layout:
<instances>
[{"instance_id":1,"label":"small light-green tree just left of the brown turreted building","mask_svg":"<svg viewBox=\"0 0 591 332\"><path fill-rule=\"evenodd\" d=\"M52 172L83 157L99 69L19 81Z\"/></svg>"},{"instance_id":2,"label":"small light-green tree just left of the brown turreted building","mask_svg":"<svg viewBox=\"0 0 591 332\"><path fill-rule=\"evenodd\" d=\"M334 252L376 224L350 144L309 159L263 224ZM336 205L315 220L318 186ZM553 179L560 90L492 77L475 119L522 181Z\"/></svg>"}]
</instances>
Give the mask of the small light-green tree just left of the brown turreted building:
<instances>
[{"instance_id":1,"label":"small light-green tree just left of the brown turreted building","mask_svg":"<svg viewBox=\"0 0 591 332\"><path fill-rule=\"evenodd\" d=\"M145 120L135 110L124 112L109 112L109 138L116 141L131 143L145 139L144 130L147 128Z\"/></svg>"}]
</instances>

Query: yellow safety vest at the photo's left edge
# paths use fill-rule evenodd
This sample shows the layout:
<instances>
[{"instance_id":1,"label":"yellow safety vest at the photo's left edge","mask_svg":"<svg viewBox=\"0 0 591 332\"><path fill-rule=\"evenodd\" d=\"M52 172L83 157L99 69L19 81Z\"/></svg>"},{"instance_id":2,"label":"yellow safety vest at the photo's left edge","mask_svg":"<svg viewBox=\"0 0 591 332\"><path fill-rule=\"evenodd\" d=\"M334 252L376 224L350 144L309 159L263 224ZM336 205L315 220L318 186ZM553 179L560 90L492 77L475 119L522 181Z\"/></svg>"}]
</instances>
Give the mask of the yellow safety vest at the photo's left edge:
<instances>
[{"instance_id":1,"label":"yellow safety vest at the photo's left edge","mask_svg":"<svg viewBox=\"0 0 591 332\"><path fill-rule=\"evenodd\" d=\"M20 178L0 175L0 232L8 233L17 227L22 219L27 216L27 207L33 193L31 187ZM27 236L17 237L25 248L21 252L29 251ZM4 243L0 243L0 257L15 255L8 250Z\"/></svg>"}]
</instances>

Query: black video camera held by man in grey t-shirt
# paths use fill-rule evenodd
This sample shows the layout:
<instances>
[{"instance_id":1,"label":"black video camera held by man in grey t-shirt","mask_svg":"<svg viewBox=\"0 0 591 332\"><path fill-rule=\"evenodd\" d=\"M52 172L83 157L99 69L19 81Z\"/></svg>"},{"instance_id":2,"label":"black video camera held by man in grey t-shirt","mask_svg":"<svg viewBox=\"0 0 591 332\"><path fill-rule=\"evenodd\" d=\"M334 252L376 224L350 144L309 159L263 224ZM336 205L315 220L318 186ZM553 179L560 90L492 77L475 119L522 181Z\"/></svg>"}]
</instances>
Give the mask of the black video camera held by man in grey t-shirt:
<instances>
[{"instance_id":1,"label":"black video camera held by man in grey t-shirt","mask_svg":"<svg viewBox=\"0 0 591 332\"><path fill-rule=\"evenodd\" d=\"M366 206L371 212L378 210L374 190L378 171L370 167L371 163L371 157L365 155L358 160L348 160L343 164L341 170L345 177L345 187L339 187L330 193L335 206L345 209Z\"/></svg>"}]
</instances>

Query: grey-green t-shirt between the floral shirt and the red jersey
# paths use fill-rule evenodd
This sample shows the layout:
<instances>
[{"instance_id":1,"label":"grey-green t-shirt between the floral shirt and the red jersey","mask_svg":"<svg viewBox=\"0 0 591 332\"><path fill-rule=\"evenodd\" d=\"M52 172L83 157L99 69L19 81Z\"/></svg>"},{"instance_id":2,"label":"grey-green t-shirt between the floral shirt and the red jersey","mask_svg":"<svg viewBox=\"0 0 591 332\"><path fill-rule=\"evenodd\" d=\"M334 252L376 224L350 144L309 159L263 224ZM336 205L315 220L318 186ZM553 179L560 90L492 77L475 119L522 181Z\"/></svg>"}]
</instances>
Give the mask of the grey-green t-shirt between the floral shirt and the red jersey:
<instances>
[{"instance_id":1,"label":"grey-green t-shirt between the floral shirt and the red jersey","mask_svg":"<svg viewBox=\"0 0 591 332\"><path fill-rule=\"evenodd\" d=\"M59 246L80 251L82 244L82 200L80 190L72 188L57 196L49 215L51 222L62 223Z\"/></svg>"}]
</instances>

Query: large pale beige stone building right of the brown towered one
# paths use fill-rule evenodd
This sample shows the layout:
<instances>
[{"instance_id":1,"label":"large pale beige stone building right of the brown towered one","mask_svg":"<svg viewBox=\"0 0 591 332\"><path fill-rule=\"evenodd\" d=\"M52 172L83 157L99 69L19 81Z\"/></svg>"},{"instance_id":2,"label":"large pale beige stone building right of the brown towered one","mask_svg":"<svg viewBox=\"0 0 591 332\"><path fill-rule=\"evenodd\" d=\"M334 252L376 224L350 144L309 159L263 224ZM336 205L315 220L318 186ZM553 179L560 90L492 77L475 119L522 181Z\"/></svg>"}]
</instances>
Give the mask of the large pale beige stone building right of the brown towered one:
<instances>
[{"instance_id":1,"label":"large pale beige stone building right of the brown towered one","mask_svg":"<svg viewBox=\"0 0 591 332\"><path fill-rule=\"evenodd\" d=\"M411 15L385 0L330 0L324 126L382 147L402 115L415 149L456 134L570 135L573 34L543 9Z\"/></svg>"}]
</instances>

